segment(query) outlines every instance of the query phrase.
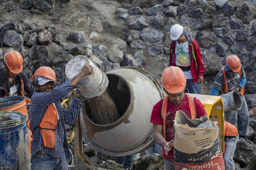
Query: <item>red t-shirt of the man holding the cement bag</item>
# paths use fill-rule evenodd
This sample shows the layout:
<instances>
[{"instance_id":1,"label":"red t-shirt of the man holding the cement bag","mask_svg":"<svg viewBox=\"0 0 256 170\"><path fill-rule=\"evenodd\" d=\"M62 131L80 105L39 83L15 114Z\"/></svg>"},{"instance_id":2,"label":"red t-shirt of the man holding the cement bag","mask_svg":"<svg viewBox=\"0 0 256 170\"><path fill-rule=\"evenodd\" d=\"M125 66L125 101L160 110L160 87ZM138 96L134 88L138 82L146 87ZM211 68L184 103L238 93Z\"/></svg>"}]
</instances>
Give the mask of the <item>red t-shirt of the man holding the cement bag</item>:
<instances>
[{"instance_id":1,"label":"red t-shirt of the man holding the cement bag","mask_svg":"<svg viewBox=\"0 0 256 170\"><path fill-rule=\"evenodd\" d=\"M151 119L150 119L151 123L154 123L157 125L163 125L162 116L161 116L162 102L163 102L163 99L158 101L158 103L154 105L152 114L151 114ZM178 105L175 105L168 100L168 105L166 110L166 141L169 142L171 141L171 139L174 139L175 128L173 126L174 125L173 120L178 110L182 110L187 115L187 117L191 119L190 108L187 103L188 103L188 98L186 95ZM199 113L199 118L201 118L201 116L207 116L207 113L204 109L203 104L201 103L201 101L199 101L199 99L196 99L196 98L195 98L195 108ZM164 151L162 152L162 155L164 159L173 162L173 147L168 152L168 156L164 153Z\"/></svg>"}]
</instances>

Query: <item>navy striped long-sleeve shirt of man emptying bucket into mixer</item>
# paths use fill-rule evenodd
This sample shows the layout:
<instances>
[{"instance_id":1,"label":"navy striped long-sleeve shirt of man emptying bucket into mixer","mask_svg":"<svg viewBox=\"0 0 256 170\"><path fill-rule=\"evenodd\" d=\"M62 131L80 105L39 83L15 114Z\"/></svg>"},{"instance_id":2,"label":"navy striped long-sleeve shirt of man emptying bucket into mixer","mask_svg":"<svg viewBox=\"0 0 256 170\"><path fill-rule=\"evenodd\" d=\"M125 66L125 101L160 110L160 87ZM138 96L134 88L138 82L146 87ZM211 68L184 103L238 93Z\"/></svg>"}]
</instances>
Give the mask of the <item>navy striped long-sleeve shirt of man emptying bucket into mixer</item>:
<instances>
[{"instance_id":1,"label":"navy striped long-sleeve shirt of man emptying bucket into mixer","mask_svg":"<svg viewBox=\"0 0 256 170\"><path fill-rule=\"evenodd\" d=\"M76 88L74 85L68 85L71 81L72 80L66 81L62 85L55 87L51 92L37 92L33 94L30 102L29 116L30 128L33 130L34 135L31 143L31 155L34 155L38 151L43 151L53 157L62 157L62 151L64 148L66 158L70 158L65 123L72 125L77 118L81 106L83 105L80 99L74 98L69 110L61 107L59 99ZM48 105L52 103L55 104L59 114L55 130L55 147L45 148L40 129L37 126L40 124Z\"/></svg>"}]
</instances>

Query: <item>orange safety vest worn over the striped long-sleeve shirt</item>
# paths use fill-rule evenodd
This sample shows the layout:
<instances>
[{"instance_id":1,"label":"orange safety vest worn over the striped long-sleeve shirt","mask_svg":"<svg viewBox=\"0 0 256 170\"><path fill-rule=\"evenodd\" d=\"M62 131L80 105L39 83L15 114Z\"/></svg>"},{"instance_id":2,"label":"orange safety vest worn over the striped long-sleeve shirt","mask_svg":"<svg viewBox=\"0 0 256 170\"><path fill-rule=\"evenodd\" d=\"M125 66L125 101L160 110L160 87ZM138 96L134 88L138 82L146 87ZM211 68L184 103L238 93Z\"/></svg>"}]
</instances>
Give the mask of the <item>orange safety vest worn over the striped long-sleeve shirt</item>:
<instances>
[{"instance_id":1,"label":"orange safety vest worn over the striped long-sleeve shirt","mask_svg":"<svg viewBox=\"0 0 256 170\"><path fill-rule=\"evenodd\" d=\"M42 139L44 142L44 147L46 148L54 148L55 146L55 129L57 126L57 121L58 121L57 109L53 104L50 104L47 107L47 110L40 124L33 129L35 130L38 127L40 128ZM29 126L29 119L27 122L27 126L31 130ZM33 132L33 130L31 131ZM33 134L31 137L33 137Z\"/></svg>"}]
</instances>

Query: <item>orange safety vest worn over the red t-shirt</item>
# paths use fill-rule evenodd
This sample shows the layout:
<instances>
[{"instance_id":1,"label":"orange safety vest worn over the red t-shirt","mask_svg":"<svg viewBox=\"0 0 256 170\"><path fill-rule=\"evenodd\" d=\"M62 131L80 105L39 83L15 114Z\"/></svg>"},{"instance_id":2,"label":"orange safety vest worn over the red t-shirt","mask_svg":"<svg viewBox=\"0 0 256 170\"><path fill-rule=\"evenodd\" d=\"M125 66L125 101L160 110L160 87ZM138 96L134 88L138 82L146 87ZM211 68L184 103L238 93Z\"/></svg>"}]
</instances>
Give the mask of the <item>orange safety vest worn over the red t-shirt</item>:
<instances>
[{"instance_id":1,"label":"orange safety vest worn over the red t-shirt","mask_svg":"<svg viewBox=\"0 0 256 170\"><path fill-rule=\"evenodd\" d=\"M186 94L188 98L188 105L189 105L189 109L190 109L190 114L191 114L191 119L196 119L198 118L198 113L197 110L195 108L195 101L194 101L194 97ZM164 137L164 139L166 139L166 110L167 110L167 104L168 104L168 96L163 98L163 103L162 103L162 107L161 107L161 115L162 115L162 120L163 120L163 128L162 128L162 136Z\"/></svg>"}]
</instances>

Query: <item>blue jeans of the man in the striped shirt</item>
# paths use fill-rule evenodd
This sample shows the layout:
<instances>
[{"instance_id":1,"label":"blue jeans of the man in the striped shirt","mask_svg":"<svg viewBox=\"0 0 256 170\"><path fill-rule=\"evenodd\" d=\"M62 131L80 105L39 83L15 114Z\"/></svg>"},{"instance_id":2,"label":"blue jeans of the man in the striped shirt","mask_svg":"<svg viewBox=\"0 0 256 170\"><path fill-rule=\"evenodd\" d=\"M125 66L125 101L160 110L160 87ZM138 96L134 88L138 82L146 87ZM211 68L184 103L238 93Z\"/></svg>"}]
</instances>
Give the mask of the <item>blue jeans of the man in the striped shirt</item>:
<instances>
[{"instance_id":1,"label":"blue jeans of the man in the striped shirt","mask_svg":"<svg viewBox=\"0 0 256 170\"><path fill-rule=\"evenodd\" d=\"M52 157L48 154L39 154L31 156L31 170L68 170L65 152L63 157Z\"/></svg>"}]
</instances>

